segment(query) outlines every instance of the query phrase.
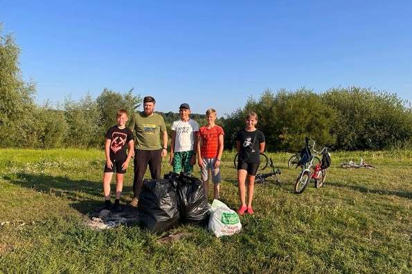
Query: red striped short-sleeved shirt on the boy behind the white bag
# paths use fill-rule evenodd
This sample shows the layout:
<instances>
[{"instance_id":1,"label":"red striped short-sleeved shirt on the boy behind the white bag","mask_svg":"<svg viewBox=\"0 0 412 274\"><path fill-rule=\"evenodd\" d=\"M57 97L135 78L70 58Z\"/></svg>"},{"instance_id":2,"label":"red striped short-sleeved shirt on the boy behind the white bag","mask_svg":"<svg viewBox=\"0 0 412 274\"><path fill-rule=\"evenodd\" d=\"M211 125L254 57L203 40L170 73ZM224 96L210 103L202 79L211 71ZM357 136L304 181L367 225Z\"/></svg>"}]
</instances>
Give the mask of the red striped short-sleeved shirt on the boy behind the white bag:
<instances>
[{"instance_id":1,"label":"red striped short-sleeved shirt on the boy behind the white bag","mask_svg":"<svg viewBox=\"0 0 412 274\"><path fill-rule=\"evenodd\" d=\"M202 126L197 132L197 137L201 139L200 153L203 158L217 157L219 148L219 136L224 135L223 128L220 126Z\"/></svg>"}]
</instances>

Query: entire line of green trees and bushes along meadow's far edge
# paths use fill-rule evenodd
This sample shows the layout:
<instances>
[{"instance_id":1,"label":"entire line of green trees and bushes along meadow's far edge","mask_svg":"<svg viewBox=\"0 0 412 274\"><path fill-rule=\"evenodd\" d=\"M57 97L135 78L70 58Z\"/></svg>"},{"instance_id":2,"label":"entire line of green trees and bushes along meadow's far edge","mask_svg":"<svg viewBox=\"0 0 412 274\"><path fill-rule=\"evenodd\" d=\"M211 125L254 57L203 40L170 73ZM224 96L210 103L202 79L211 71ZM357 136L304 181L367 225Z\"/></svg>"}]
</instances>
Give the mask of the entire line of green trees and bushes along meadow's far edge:
<instances>
[{"instance_id":1,"label":"entire line of green trees and bushes along meadow's far edge","mask_svg":"<svg viewBox=\"0 0 412 274\"><path fill-rule=\"evenodd\" d=\"M105 89L93 99L64 99L57 106L35 104L35 84L22 80L19 47L0 24L0 147L101 148L104 134L116 124L116 111L141 110L141 96L133 90L120 93ZM156 98L161 100L161 98ZM189 102L190 103L190 102ZM304 88L272 92L249 99L217 124L225 130L225 147L232 149L235 133L244 127L249 111L258 114L258 128L265 133L267 150L296 151L305 136L319 146L337 150L410 148L412 113L397 95L368 88L332 88L317 93ZM179 119L175 112L161 113L168 130ZM206 124L205 115L192 115Z\"/></svg>"}]
</instances>

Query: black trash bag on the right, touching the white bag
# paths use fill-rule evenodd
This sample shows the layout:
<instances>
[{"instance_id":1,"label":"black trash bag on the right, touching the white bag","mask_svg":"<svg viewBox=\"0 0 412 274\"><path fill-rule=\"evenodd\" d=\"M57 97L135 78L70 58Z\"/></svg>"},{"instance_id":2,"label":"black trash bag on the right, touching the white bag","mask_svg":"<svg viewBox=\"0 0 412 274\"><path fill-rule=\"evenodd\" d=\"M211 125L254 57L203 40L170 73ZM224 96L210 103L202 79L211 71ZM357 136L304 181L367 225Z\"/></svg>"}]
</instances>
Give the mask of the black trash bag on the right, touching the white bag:
<instances>
[{"instance_id":1,"label":"black trash bag on the right, touching the white bag","mask_svg":"<svg viewBox=\"0 0 412 274\"><path fill-rule=\"evenodd\" d=\"M209 205L204 195L203 183L186 173L177 180L180 219L183 223L206 226L209 219Z\"/></svg>"}]
</instances>

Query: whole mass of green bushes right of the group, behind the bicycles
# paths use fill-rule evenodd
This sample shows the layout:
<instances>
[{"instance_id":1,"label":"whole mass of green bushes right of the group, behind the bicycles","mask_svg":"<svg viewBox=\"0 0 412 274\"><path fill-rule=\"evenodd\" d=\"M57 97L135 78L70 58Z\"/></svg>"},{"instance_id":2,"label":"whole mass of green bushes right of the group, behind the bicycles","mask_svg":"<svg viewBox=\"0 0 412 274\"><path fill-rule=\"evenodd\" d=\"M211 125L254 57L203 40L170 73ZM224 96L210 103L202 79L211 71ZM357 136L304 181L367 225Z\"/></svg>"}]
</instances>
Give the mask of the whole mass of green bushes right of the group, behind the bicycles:
<instances>
[{"instance_id":1,"label":"whole mass of green bushes right of the group, behind the bicycles","mask_svg":"<svg viewBox=\"0 0 412 274\"><path fill-rule=\"evenodd\" d=\"M270 151L297 151L306 136L335 150L411 148L412 144L409 102L368 88L332 88L321 94L304 88L266 90L222 121L226 148L233 146L249 111L258 114L257 127L265 133Z\"/></svg>"}]
</instances>

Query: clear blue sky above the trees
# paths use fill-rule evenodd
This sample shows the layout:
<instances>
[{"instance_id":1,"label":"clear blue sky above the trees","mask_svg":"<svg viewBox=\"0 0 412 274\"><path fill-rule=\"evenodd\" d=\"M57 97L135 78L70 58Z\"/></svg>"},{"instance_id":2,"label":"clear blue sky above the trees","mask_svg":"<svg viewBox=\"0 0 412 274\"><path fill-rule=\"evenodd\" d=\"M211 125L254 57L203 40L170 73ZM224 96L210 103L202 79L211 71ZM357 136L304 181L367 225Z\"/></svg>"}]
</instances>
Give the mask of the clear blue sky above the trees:
<instances>
[{"instance_id":1,"label":"clear blue sky above the trees","mask_svg":"<svg viewBox=\"0 0 412 274\"><path fill-rule=\"evenodd\" d=\"M412 101L412 1L4 1L37 101L103 88L218 115L263 90L361 86Z\"/></svg>"}]
</instances>

